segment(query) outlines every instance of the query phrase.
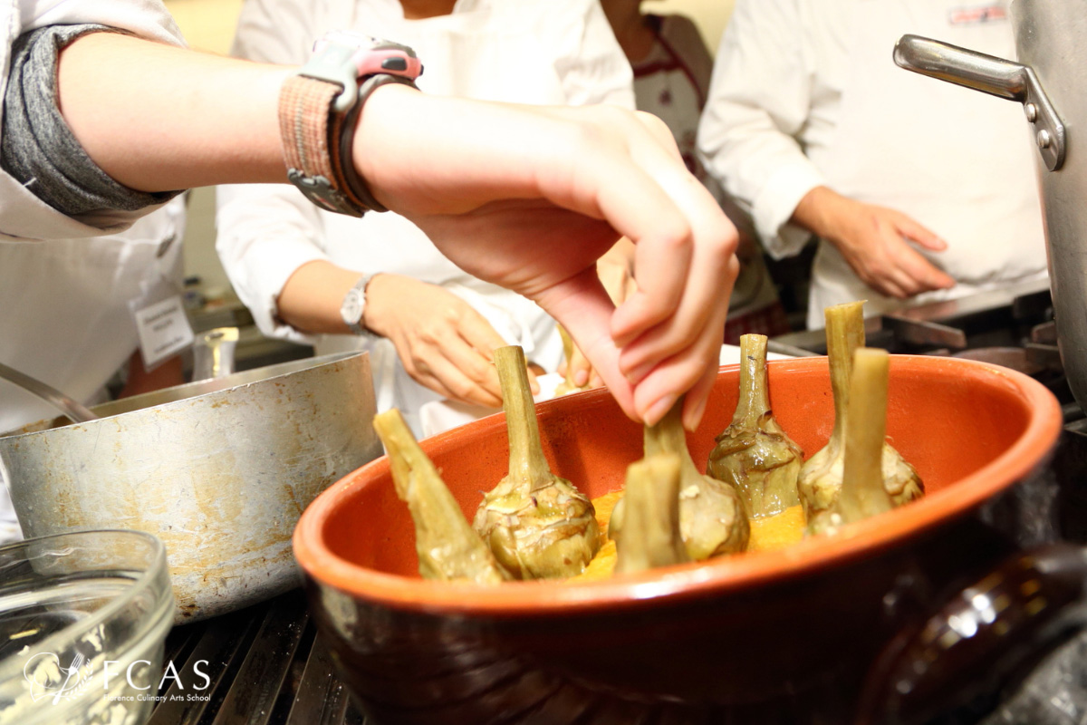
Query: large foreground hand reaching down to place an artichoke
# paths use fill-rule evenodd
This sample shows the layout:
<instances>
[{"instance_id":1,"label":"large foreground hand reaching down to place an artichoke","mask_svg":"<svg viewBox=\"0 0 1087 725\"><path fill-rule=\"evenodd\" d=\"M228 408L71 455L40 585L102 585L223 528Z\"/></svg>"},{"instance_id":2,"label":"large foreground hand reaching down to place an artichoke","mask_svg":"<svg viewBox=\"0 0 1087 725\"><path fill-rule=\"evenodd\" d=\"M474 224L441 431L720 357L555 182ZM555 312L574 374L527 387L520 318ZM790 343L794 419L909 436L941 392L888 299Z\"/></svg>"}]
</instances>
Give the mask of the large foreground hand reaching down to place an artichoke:
<instances>
[{"instance_id":1,"label":"large foreground hand reaching down to place an artichoke","mask_svg":"<svg viewBox=\"0 0 1087 725\"><path fill-rule=\"evenodd\" d=\"M689 390L684 423L701 418L738 270L736 230L660 120L390 85L367 101L353 155L377 198L443 254L570 330L628 415L655 423ZM635 245L637 291L616 310L596 261L623 235Z\"/></svg>"}]
</instances>

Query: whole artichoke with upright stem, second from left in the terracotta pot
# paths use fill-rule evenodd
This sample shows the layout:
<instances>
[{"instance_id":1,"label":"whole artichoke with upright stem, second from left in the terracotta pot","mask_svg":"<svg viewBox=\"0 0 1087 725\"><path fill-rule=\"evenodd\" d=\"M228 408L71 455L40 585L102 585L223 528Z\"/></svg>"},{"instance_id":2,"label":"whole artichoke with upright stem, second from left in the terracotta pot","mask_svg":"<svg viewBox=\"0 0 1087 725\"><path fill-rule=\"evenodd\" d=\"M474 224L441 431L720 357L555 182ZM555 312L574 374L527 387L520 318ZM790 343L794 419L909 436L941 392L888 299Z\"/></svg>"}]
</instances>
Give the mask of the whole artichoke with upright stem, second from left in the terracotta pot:
<instances>
[{"instance_id":1,"label":"whole artichoke with upright stem, second from left in the terracotta pot","mask_svg":"<svg viewBox=\"0 0 1087 725\"><path fill-rule=\"evenodd\" d=\"M548 467L522 349L498 348L495 364L510 435L510 473L484 496L473 526L515 579L574 576L600 548L592 502Z\"/></svg>"}]
</instances>

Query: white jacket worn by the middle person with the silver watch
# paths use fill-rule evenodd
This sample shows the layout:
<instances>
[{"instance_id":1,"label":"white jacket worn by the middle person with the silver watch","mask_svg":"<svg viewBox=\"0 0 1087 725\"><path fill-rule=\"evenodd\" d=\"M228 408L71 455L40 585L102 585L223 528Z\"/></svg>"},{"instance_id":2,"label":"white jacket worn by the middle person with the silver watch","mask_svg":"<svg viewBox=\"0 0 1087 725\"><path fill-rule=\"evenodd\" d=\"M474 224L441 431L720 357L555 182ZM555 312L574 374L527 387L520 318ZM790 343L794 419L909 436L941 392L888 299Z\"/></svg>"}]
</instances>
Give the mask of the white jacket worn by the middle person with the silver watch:
<instances>
[{"instance_id":1,"label":"white jacket worn by the middle person with the silver watch","mask_svg":"<svg viewBox=\"0 0 1087 725\"><path fill-rule=\"evenodd\" d=\"M417 85L427 93L634 108L630 66L595 0L460 0L450 15L414 21L403 18L399 0L249 0L234 54L302 64L329 29L411 46L425 67ZM276 317L276 299L299 266L330 260L360 274L388 272L442 285L509 343L521 345L529 360L549 370L561 360L554 323L535 303L465 274L392 212L358 220L321 211L290 187L226 186L218 188L216 226L220 258L261 330L315 345L320 353L370 350L377 409L399 408L416 435L420 407L440 396L411 379L390 341L308 336Z\"/></svg>"}]
</instances>

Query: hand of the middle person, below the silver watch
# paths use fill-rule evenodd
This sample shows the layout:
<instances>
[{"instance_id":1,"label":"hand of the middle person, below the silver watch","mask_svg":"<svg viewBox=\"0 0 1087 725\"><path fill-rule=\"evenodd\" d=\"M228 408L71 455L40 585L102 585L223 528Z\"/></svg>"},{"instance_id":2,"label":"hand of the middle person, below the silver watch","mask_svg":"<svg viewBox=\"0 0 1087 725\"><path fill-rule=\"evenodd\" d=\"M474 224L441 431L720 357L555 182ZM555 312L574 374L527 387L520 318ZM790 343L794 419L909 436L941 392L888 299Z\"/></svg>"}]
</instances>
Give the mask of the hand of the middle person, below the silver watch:
<instances>
[{"instance_id":1,"label":"hand of the middle person, below the silver watch","mask_svg":"<svg viewBox=\"0 0 1087 725\"><path fill-rule=\"evenodd\" d=\"M363 324L397 349L420 385L460 402L501 408L492 351L505 345L483 315L443 287L396 274L366 285ZM533 392L536 376L528 371Z\"/></svg>"}]
</instances>

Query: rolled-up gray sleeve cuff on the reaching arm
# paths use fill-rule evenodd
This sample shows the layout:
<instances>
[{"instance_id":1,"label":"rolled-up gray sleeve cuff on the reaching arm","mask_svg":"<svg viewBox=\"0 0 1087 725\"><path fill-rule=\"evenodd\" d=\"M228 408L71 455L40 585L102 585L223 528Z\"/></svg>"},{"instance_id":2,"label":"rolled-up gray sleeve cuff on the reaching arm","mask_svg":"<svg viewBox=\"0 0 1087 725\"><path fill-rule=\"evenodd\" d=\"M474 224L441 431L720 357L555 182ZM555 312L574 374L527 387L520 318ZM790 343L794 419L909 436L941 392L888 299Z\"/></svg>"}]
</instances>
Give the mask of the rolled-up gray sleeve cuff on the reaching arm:
<instances>
[{"instance_id":1,"label":"rolled-up gray sleeve cuff on the reaching arm","mask_svg":"<svg viewBox=\"0 0 1087 725\"><path fill-rule=\"evenodd\" d=\"M137 211L180 191L147 193L113 180L91 161L58 105L57 61L67 43L101 25L52 25L20 36L12 47L3 98L0 166L53 209L76 216L101 210ZM123 118L117 118L123 124Z\"/></svg>"}]
</instances>

